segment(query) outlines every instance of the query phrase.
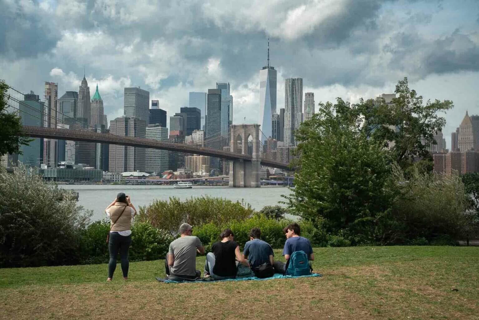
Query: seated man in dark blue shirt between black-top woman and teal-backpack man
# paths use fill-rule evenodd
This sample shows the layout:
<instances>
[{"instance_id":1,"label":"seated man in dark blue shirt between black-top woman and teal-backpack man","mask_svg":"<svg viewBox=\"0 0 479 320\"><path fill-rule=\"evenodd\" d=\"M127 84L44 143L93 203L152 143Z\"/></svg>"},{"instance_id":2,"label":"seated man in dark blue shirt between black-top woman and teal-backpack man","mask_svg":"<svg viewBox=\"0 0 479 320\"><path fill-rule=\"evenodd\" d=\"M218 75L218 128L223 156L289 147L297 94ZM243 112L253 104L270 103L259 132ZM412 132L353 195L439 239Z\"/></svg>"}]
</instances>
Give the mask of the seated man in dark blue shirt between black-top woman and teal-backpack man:
<instances>
[{"instance_id":1,"label":"seated man in dark blue shirt between black-top woman and teal-backpack man","mask_svg":"<svg viewBox=\"0 0 479 320\"><path fill-rule=\"evenodd\" d=\"M258 278L269 278L274 275L274 253L270 244L260 240L261 230L252 228L250 241L246 242L243 259L250 262L251 270ZM261 268L260 268L261 266Z\"/></svg>"}]
</instances>

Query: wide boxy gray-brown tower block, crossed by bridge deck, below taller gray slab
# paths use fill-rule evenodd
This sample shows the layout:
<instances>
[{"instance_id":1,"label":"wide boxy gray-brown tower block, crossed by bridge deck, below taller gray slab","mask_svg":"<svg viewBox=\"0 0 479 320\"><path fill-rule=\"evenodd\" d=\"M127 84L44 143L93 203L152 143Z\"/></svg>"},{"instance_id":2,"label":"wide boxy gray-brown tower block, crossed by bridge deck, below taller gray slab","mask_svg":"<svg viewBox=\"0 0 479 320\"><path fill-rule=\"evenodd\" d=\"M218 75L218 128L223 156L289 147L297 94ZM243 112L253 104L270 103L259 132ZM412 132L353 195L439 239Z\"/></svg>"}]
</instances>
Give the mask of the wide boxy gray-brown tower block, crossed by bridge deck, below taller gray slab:
<instances>
[{"instance_id":1,"label":"wide boxy gray-brown tower block, crossed by bridge deck, below taller gray slab","mask_svg":"<svg viewBox=\"0 0 479 320\"><path fill-rule=\"evenodd\" d=\"M148 100L147 100L148 101ZM117 136L145 138L145 121L120 117L110 121L110 133ZM145 171L145 148L110 144L109 171Z\"/></svg>"}]
</instances>

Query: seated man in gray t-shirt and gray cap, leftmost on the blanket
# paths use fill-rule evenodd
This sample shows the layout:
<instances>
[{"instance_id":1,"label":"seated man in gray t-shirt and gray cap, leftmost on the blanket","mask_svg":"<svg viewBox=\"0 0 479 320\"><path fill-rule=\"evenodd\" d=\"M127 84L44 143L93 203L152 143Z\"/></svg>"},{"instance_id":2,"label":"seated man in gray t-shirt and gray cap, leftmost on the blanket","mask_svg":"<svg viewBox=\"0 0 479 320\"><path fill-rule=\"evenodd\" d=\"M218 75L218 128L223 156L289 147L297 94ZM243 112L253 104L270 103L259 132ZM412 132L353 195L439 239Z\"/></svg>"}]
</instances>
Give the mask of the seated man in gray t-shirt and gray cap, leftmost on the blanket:
<instances>
[{"instance_id":1,"label":"seated man in gray t-shirt and gray cap, leftmost on the blanket","mask_svg":"<svg viewBox=\"0 0 479 320\"><path fill-rule=\"evenodd\" d=\"M166 274L184 279L199 278L201 272L196 270L196 251L205 253L205 248L198 237L192 236L193 227L187 223L180 225L181 236L171 242L165 261Z\"/></svg>"}]
</instances>

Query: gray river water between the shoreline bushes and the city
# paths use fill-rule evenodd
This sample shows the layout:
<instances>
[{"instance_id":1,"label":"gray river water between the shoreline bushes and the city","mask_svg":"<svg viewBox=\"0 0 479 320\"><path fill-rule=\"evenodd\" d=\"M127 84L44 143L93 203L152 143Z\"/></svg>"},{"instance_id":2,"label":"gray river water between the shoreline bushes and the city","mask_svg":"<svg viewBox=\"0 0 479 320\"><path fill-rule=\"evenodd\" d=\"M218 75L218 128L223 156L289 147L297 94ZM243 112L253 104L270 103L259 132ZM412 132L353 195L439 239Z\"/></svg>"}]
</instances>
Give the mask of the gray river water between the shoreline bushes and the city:
<instances>
[{"instance_id":1,"label":"gray river water between the shoreline bushes and the city","mask_svg":"<svg viewBox=\"0 0 479 320\"><path fill-rule=\"evenodd\" d=\"M139 206L148 205L154 199L168 200L177 197L185 200L191 197L211 196L226 198L231 201L244 201L255 210L265 205L282 205L283 194L289 194L286 187L261 188L229 188L193 186L192 189L174 189L173 186L135 186L135 185L61 185L59 188L73 189L80 193L78 204L93 210L91 219L100 220L105 217L104 209L114 200L118 192L129 195L131 202L138 210Z\"/></svg>"}]
</instances>

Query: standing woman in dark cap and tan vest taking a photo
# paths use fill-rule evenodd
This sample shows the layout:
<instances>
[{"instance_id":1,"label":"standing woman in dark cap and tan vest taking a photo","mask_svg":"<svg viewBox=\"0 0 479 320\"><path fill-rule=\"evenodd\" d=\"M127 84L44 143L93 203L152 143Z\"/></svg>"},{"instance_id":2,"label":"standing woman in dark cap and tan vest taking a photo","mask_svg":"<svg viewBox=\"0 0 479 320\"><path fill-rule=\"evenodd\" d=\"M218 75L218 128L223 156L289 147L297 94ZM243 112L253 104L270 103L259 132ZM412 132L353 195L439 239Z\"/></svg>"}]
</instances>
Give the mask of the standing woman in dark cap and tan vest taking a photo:
<instances>
[{"instance_id":1,"label":"standing woman in dark cap and tan vest taking a photo","mask_svg":"<svg viewBox=\"0 0 479 320\"><path fill-rule=\"evenodd\" d=\"M137 214L137 209L131 203L130 197L120 192L116 199L105 209L106 215L111 219L110 239L108 250L110 251L110 262L108 263L108 279L112 281L116 269L116 257L118 252L121 256L121 270L123 278L128 280L128 250L131 244L131 219Z\"/></svg>"}]
</instances>

